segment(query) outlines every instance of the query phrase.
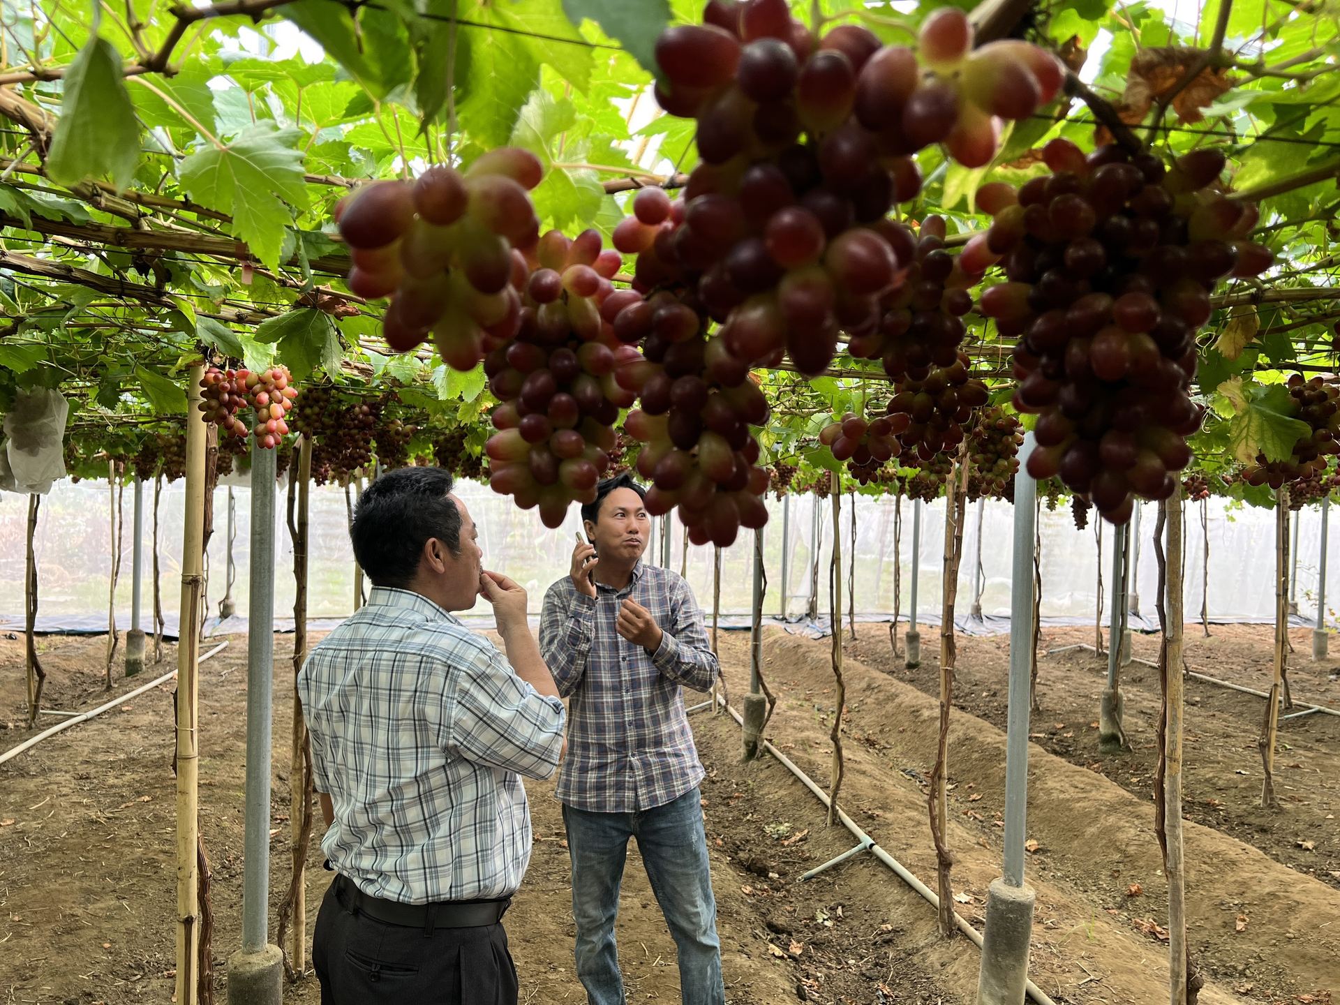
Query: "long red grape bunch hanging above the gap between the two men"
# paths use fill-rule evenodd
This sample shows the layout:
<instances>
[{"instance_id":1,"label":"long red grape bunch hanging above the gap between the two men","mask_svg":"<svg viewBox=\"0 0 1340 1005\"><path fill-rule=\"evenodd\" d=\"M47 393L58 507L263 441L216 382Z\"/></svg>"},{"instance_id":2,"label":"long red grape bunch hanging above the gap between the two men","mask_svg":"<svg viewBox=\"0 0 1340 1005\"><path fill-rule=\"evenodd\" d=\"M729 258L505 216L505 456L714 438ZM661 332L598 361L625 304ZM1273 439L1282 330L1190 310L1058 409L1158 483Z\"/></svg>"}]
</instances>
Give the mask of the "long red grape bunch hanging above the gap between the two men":
<instances>
[{"instance_id":1,"label":"long red grape bunch hanging above the gap between the two men","mask_svg":"<svg viewBox=\"0 0 1340 1005\"><path fill-rule=\"evenodd\" d=\"M619 410L636 399L614 371L642 354L622 344L600 316L622 259L600 245L596 230L575 240L545 233L536 248L539 268L524 283L516 339L484 360L489 390L501 402L492 417L497 433L485 444L489 485L521 509L539 507L545 527L560 527L574 500L595 498L616 444Z\"/></svg>"}]
</instances>

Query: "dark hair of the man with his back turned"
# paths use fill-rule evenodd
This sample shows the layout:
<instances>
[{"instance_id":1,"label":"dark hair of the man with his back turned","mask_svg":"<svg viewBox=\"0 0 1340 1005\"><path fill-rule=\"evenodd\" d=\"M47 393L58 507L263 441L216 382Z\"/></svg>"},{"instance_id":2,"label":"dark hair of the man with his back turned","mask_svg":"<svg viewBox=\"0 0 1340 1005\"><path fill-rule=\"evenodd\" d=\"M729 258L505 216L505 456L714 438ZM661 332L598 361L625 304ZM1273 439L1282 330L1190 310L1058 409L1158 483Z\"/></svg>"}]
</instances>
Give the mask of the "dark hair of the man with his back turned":
<instances>
[{"instance_id":1,"label":"dark hair of the man with his back turned","mask_svg":"<svg viewBox=\"0 0 1340 1005\"><path fill-rule=\"evenodd\" d=\"M348 536L374 586L409 586L431 537L461 553L461 511L450 490L452 473L442 468L399 468L363 490Z\"/></svg>"}]
</instances>

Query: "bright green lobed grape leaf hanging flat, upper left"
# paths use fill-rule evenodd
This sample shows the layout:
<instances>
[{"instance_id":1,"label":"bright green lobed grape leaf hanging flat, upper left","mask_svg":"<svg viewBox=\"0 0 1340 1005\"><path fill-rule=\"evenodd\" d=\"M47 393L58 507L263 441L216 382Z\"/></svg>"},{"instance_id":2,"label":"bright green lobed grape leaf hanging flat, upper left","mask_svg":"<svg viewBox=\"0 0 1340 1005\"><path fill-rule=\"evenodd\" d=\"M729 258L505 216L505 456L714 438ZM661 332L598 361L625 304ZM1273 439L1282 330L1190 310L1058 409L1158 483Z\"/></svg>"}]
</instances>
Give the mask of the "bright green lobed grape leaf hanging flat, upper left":
<instances>
[{"instance_id":1,"label":"bright green lobed grape leaf hanging flat, upper left","mask_svg":"<svg viewBox=\"0 0 1340 1005\"><path fill-rule=\"evenodd\" d=\"M307 208L303 154L292 149L296 129L257 123L220 149L209 145L181 162L178 174L202 206L230 213L233 236L269 268L279 268L284 228L293 214L280 200Z\"/></svg>"}]
</instances>

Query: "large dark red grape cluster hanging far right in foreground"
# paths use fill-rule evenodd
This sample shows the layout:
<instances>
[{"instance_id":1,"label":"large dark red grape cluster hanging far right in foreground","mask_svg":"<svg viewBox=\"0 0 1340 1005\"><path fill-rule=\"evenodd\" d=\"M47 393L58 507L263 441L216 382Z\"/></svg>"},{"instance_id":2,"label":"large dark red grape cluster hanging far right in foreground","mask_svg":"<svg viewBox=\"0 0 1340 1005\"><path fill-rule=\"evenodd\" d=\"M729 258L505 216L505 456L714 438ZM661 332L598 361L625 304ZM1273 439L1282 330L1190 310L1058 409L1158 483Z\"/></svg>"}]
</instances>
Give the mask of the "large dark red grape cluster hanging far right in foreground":
<instances>
[{"instance_id":1,"label":"large dark red grape cluster hanging far right in foreground","mask_svg":"<svg viewBox=\"0 0 1340 1005\"><path fill-rule=\"evenodd\" d=\"M1033 178L996 213L986 243L1008 283L981 310L1014 348L1018 411L1038 414L1029 473L1060 474L1111 523L1135 493L1166 498L1191 460L1185 437L1203 407L1187 387L1195 330L1218 280L1250 276L1270 252L1242 239L1257 210L1211 186L1225 158L1194 150L1166 170L1116 146L1085 157L1067 139L1043 150ZM997 204L1008 202L1004 188Z\"/></svg>"}]
</instances>

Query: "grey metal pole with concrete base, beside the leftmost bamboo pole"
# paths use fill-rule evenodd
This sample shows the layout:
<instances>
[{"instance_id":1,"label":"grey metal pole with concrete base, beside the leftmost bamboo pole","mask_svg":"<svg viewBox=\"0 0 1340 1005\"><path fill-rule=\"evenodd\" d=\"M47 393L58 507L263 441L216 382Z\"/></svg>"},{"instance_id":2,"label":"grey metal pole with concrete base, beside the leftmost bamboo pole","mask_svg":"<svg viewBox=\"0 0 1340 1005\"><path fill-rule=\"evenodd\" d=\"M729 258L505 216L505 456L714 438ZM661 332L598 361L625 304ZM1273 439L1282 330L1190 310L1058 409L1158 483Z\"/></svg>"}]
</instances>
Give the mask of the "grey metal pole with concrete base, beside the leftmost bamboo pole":
<instances>
[{"instance_id":1,"label":"grey metal pole with concrete base, beside the leftmost bamboo pole","mask_svg":"<svg viewBox=\"0 0 1340 1005\"><path fill-rule=\"evenodd\" d=\"M271 777L271 709L275 669L275 469L276 450L252 444L251 476L251 568L248 571L247 610L247 819L243 844L243 949L241 957L260 961L273 949L269 942L269 777ZM268 963L268 961L267 961ZM228 997L230 1001L279 1002L281 966L275 966L276 997L271 998L269 980L233 994L229 963ZM244 967L251 970L252 967ZM268 966L264 967L268 972ZM268 978L268 973L267 973ZM249 981L248 981L249 984ZM241 997L247 990L260 998Z\"/></svg>"}]
</instances>

